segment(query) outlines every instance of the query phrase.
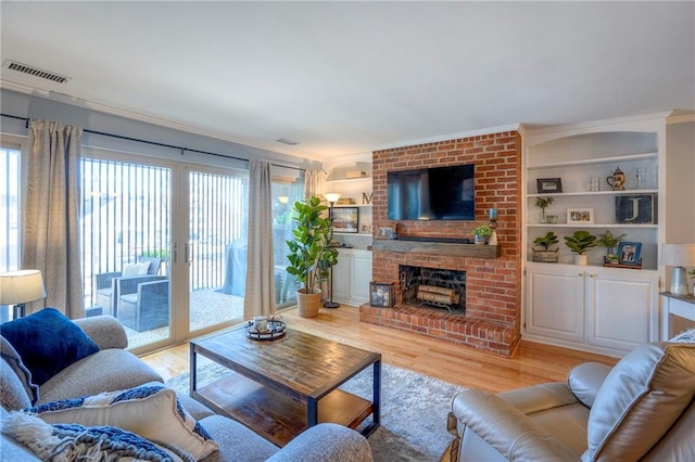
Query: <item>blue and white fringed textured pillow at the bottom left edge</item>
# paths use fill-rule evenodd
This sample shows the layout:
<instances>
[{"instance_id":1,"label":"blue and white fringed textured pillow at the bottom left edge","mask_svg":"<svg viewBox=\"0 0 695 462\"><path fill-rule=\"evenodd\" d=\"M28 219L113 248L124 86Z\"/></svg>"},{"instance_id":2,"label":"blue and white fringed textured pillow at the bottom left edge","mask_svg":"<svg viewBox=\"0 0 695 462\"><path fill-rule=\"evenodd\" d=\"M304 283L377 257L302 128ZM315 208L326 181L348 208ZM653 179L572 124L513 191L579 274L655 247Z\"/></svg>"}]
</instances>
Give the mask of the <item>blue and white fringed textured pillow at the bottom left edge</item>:
<instances>
[{"instance_id":1,"label":"blue and white fringed textured pillow at the bottom left edge","mask_svg":"<svg viewBox=\"0 0 695 462\"><path fill-rule=\"evenodd\" d=\"M178 448L154 444L122 428L50 425L22 412L10 412L3 418L2 433L30 449L41 460L193 461L190 454Z\"/></svg>"}]
</instances>

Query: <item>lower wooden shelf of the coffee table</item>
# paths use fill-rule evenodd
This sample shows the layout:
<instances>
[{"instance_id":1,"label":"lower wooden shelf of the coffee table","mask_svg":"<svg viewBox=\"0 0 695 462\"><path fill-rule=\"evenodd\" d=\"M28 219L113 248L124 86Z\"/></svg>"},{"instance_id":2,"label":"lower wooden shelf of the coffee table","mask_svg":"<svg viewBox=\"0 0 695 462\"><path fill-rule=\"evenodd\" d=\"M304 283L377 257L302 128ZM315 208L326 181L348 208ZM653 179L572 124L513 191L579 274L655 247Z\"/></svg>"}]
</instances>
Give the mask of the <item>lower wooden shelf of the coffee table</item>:
<instances>
[{"instance_id":1,"label":"lower wooden shelf of the coffee table","mask_svg":"<svg viewBox=\"0 0 695 462\"><path fill-rule=\"evenodd\" d=\"M280 447L307 427L306 403L237 373L198 389L193 398ZM371 401L334 389L318 401L318 422L355 429L372 410Z\"/></svg>"}]
</instances>

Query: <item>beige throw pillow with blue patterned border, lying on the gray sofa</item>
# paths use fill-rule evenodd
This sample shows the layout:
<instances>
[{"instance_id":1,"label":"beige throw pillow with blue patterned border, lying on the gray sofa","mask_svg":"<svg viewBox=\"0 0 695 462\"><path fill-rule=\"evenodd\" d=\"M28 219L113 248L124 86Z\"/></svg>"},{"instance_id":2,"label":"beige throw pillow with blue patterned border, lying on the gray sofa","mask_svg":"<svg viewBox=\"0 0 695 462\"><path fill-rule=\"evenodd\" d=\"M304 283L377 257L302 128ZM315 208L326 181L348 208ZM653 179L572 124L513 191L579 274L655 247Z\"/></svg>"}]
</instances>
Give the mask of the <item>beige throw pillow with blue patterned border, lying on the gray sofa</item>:
<instances>
[{"instance_id":1,"label":"beige throw pillow with blue patterned border, lying on the gray sofa","mask_svg":"<svg viewBox=\"0 0 695 462\"><path fill-rule=\"evenodd\" d=\"M161 385L49 402L25 411L51 424L117 426L181 448L195 460L219 449L205 428L184 409L176 392Z\"/></svg>"}]
</instances>

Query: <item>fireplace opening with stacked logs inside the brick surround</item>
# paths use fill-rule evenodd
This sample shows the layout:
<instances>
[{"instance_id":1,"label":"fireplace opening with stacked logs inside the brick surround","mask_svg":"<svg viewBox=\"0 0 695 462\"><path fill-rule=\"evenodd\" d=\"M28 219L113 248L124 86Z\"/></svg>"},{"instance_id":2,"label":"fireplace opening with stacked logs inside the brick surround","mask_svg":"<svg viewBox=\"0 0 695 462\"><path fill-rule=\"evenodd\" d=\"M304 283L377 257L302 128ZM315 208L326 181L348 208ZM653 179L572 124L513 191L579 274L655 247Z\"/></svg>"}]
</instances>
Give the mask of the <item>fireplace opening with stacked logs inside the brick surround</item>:
<instances>
[{"instance_id":1,"label":"fireplace opening with stacked logs inside the brick surround","mask_svg":"<svg viewBox=\"0 0 695 462\"><path fill-rule=\"evenodd\" d=\"M399 281L404 305L466 313L466 271L401 265Z\"/></svg>"}]
</instances>

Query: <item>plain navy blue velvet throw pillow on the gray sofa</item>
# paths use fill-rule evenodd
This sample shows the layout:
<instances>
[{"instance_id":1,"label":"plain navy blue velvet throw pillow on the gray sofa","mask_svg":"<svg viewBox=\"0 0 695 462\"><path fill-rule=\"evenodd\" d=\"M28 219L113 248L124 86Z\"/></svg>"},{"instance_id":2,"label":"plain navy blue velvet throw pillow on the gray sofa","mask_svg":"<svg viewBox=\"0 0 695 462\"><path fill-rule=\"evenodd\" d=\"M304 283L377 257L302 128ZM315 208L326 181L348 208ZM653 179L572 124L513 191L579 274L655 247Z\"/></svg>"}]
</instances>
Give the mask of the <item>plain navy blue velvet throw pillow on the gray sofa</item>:
<instances>
[{"instance_id":1,"label":"plain navy blue velvet throw pillow on the gray sofa","mask_svg":"<svg viewBox=\"0 0 695 462\"><path fill-rule=\"evenodd\" d=\"M17 351L37 385L99 351L99 346L85 331L55 308L5 322L0 333Z\"/></svg>"}]
</instances>

